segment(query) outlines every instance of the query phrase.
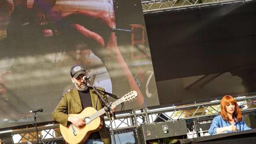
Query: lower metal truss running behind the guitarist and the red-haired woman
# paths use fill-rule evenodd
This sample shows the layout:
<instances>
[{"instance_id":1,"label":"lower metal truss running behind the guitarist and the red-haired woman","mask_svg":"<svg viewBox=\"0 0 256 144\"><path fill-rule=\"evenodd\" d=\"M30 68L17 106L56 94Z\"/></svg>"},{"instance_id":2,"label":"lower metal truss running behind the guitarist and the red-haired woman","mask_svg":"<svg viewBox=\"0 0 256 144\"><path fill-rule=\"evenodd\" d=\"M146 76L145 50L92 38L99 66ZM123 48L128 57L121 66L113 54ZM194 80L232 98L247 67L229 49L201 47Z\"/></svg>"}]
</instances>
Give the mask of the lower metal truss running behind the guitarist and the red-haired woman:
<instances>
[{"instance_id":1,"label":"lower metal truss running behind the guitarist and the red-haired woman","mask_svg":"<svg viewBox=\"0 0 256 144\"><path fill-rule=\"evenodd\" d=\"M243 109L243 113L255 112L256 104L251 103L256 99L256 95L236 97L239 105L248 104ZM109 120L105 117L106 127L110 128L110 122L114 129L114 133L124 133L128 131L135 131L140 125L155 123L159 121L175 121L180 119L186 120L200 120L204 118L213 117L220 111L220 100L214 100L211 102L204 103L194 103L184 106L171 106L161 109L148 109L143 108L140 110L131 110L129 113L116 115L115 120ZM46 125L38 128L40 131L40 138L44 143L54 144L55 141L62 139L61 134L58 130L59 125ZM20 129L10 132L14 137L16 137L15 143L25 144L31 142L36 143L37 137L35 133L35 128ZM17 140L17 137L19 139Z\"/></svg>"}]
</instances>

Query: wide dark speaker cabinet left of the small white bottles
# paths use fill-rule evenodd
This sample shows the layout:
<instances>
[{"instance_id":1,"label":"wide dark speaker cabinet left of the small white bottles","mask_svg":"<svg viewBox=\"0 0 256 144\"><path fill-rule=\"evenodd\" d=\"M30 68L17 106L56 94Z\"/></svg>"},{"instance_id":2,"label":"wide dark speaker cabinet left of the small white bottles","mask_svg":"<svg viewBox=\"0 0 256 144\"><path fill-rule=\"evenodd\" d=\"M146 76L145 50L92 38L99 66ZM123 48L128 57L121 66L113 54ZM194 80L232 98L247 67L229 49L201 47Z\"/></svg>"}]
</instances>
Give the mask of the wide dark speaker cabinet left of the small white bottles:
<instances>
[{"instance_id":1,"label":"wide dark speaker cabinet left of the small white bottles","mask_svg":"<svg viewBox=\"0 0 256 144\"><path fill-rule=\"evenodd\" d=\"M137 130L138 141L146 144L147 140L186 135L187 126L185 120L179 120L142 125Z\"/></svg>"}]
</instances>

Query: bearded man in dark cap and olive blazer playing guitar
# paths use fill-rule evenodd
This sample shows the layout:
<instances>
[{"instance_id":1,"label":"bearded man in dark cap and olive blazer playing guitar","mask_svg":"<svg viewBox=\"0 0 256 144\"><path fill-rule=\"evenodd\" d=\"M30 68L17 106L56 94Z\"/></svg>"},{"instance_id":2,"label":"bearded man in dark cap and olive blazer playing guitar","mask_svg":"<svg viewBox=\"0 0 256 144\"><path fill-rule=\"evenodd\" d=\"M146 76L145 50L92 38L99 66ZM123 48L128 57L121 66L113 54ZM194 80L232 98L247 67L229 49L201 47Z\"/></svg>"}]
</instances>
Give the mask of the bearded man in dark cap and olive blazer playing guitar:
<instances>
[{"instance_id":1,"label":"bearded man in dark cap and olive blazer playing guitar","mask_svg":"<svg viewBox=\"0 0 256 144\"><path fill-rule=\"evenodd\" d=\"M67 127L72 123L76 127L85 126L85 122L77 117L69 116L68 114L81 113L83 109L90 106L95 108L97 111L103 108L103 104L97 93L92 87L87 86L87 80L84 76L87 76L86 70L81 65L75 65L70 70L71 81L75 87L72 90L64 93L54 112L52 117L58 121L61 125ZM99 90L100 96L107 101L107 97L104 93L103 88L96 87ZM115 110L115 107L112 107ZM103 126L99 131L90 134L85 144L110 144L111 138L109 130L106 129L106 125L103 119Z\"/></svg>"}]
</instances>

